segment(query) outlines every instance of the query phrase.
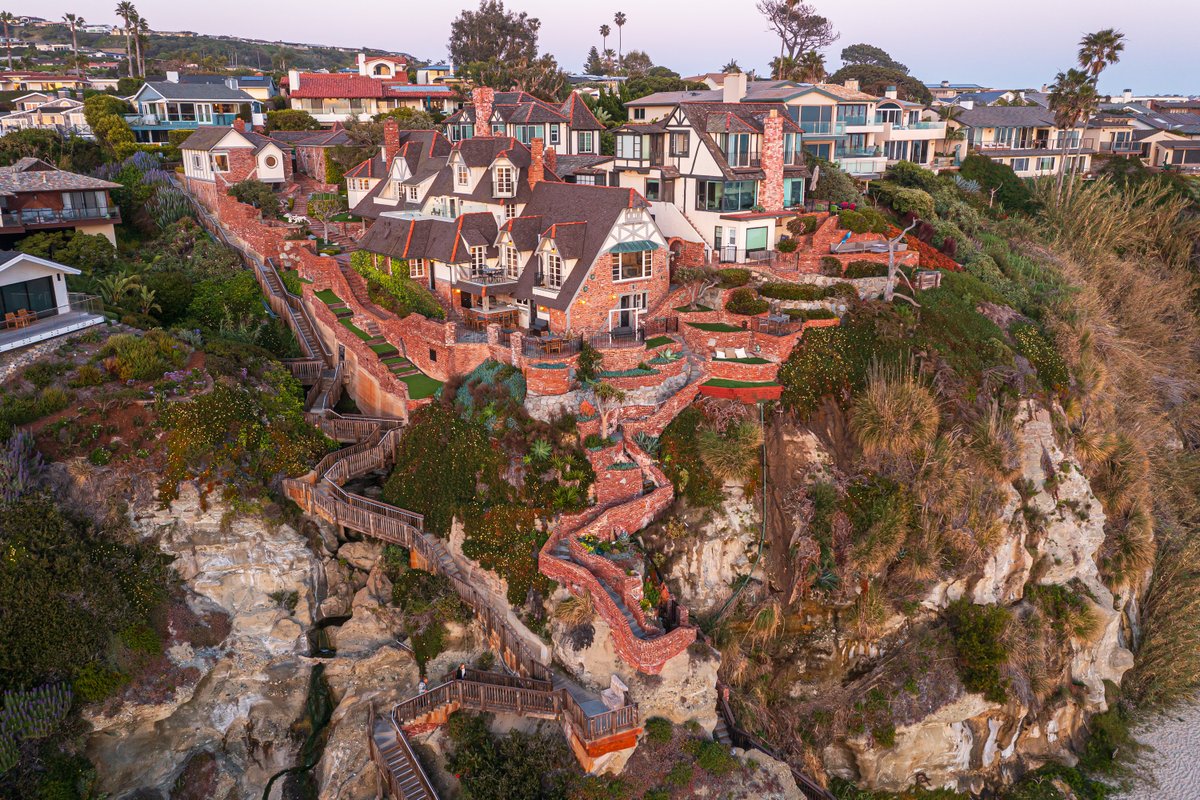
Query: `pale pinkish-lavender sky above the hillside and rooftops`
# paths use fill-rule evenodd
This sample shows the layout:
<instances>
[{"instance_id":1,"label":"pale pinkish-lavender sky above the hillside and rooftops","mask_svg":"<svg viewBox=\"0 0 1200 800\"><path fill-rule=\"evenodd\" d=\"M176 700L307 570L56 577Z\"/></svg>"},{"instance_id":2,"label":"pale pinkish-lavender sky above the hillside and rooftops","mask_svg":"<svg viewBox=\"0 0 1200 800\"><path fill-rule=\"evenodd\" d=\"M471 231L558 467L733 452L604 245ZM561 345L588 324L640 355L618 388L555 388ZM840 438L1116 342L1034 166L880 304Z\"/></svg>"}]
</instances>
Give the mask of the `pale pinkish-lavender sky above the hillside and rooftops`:
<instances>
[{"instance_id":1,"label":"pale pinkish-lavender sky above the hillside and rooftops","mask_svg":"<svg viewBox=\"0 0 1200 800\"><path fill-rule=\"evenodd\" d=\"M462 0L136 0L138 11L158 30L193 30L251 38L286 40L344 47L376 47L445 59L450 20ZM88 22L116 22L115 0L17 0L17 14L61 18L83 14ZM599 28L612 26L624 11L624 47L642 49L655 64L682 73L715 71L728 59L744 70L766 72L776 44L754 0L643 0L598 4L580 0L510 0L510 8L542 20L540 44L565 68L582 70L588 47L600 44ZM1127 0L852 0L814 5L829 17L841 38L826 54L835 68L846 44L869 42L908 65L923 80L948 79L1004 88L1040 86L1072 66L1080 36L1115 26L1128 44L1122 62L1100 80L1117 94L1200 94L1194 68L1200 2L1172 0L1139 6ZM1156 10L1147 13L1147 8ZM1162 13L1159 13L1162 12ZM613 26L614 31L616 28ZM616 35L610 38L616 49Z\"/></svg>"}]
</instances>

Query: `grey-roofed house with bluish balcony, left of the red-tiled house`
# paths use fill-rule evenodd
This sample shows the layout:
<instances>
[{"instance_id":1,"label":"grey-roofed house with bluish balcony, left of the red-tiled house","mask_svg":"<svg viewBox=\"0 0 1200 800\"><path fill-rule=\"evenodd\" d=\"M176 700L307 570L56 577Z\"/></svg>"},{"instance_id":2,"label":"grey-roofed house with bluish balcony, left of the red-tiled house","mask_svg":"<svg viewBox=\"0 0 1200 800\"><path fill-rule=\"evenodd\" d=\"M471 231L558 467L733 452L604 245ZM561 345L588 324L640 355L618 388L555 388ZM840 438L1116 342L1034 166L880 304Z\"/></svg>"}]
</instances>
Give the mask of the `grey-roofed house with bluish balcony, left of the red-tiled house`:
<instances>
[{"instance_id":1,"label":"grey-roofed house with bluish balcony, left of the red-tiled house","mask_svg":"<svg viewBox=\"0 0 1200 800\"><path fill-rule=\"evenodd\" d=\"M146 82L130 98L137 114L126 120L138 142L162 144L170 131L224 127L239 116L250 116L258 126L265 121L263 104L229 82L181 83L178 74L172 77Z\"/></svg>"}]
</instances>

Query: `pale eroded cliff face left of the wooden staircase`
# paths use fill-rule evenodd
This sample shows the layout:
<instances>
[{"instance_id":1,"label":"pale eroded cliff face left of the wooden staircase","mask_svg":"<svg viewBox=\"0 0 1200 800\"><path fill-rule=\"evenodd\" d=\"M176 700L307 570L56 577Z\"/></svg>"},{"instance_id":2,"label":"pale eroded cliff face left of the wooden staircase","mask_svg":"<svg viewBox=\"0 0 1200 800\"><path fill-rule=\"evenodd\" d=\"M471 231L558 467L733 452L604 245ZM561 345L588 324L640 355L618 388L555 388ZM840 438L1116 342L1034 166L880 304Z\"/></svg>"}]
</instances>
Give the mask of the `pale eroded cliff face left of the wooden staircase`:
<instances>
[{"instance_id":1,"label":"pale eroded cliff face left of the wooden staircase","mask_svg":"<svg viewBox=\"0 0 1200 800\"><path fill-rule=\"evenodd\" d=\"M370 704L386 708L414 693L419 680L410 652L397 643L395 609L385 607L391 590L379 569L380 548L340 542L326 529L314 536L314 552L287 525L238 517L220 504L203 509L187 486L167 510L134 505L131 513L140 535L175 557L188 604L198 614L224 612L230 632L214 648L168 652L196 678L167 700L85 710L96 729L88 754L100 788L118 800L138 789L174 798L181 776L193 782L199 775L205 796L262 796L272 775L298 763L310 678L319 662L335 703L312 771L319 796L376 798ZM328 628L336 656L311 657L313 626L346 615L343 625ZM431 674L474 655L458 650L473 640L468 630L452 627L448 638L451 650L430 664ZM271 796L281 796L282 788L281 778Z\"/></svg>"}]
</instances>

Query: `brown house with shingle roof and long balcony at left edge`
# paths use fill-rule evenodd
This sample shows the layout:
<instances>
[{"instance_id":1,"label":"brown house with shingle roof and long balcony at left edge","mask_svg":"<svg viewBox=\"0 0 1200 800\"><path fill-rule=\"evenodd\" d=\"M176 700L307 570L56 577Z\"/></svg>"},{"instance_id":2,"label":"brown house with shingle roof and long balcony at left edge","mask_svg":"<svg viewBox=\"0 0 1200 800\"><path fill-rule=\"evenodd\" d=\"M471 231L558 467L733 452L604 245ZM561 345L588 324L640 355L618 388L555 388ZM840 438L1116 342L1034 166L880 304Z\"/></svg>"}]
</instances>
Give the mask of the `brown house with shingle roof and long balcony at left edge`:
<instances>
[{"instance_id":1,"label":"brown house with shingle roof and long balcony at left edge","mask_svg":"<svg viewBox=\"0 0 1200 800\"><path fill-rule=\"evenodd\" d=\"M121 212L109 192L120 184L77 175L38 158L0 167L0 240L41 230L98 234L116 245Z\"/></svg>"}]
</instances>

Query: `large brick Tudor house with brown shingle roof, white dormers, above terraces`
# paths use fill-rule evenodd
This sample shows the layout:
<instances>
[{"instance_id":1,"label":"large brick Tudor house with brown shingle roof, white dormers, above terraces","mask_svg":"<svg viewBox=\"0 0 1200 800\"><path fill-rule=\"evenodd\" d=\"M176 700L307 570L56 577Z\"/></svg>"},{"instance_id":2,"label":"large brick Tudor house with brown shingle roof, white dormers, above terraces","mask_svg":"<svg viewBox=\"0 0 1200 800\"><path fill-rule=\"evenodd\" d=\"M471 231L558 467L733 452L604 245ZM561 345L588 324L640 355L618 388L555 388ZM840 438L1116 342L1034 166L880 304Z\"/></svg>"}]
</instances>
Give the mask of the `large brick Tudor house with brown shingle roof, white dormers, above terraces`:
<instances>
[{"instance_id":1,"label":"large brick Tudor house with brown shingle roof, white dormers, above terraces","mask_svg":"<svg viewBox=\"0 0 1200 800\"><path fill-rule=\"evenodd\" d=\"M389 126L355 205L379 269L421 282L468 324L632 332L667 293L666 240L631 188L566 184L541 139L448 143ZM348 178L349 181L355 180Z\"/></svg>"}]
</instances>

